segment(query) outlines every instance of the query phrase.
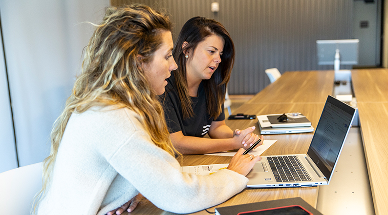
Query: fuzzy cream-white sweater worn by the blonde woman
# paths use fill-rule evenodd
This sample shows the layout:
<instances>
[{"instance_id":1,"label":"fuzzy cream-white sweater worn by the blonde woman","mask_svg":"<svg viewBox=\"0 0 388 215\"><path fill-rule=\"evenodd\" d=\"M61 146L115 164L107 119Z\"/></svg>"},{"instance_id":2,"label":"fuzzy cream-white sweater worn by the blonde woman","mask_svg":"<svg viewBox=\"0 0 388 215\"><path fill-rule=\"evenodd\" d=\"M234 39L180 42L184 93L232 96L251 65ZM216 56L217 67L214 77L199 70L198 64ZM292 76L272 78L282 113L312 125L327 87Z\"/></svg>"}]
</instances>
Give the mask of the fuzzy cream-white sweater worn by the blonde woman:
<instances>
[{"instance_id":1,"label":"fuzzy cream-white sweater worn by the blonde woman","mask_svg":"<svg viewBox=\"0 0 388 215\"><path fill-rule=\"evenodd\" d=\"M247 182L230 170L181 173L133 111L94 108L70 117L38 215L105 215L139 192L165 211L192 213L227 200Z\"/></svg>"}]
</instances>

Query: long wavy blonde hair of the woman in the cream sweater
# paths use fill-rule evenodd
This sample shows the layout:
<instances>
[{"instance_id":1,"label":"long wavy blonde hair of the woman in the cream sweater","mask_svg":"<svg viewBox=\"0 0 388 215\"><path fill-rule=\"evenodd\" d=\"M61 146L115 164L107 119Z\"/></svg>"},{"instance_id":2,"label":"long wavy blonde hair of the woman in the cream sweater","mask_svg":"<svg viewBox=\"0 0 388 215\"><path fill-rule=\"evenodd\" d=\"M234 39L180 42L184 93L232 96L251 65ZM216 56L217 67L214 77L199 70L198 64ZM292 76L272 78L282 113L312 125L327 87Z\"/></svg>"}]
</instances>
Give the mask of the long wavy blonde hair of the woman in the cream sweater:
<instances>
[{"instance_id":1,"label":"long wavy blonde hair of the woman in the cream sweater","mask_svg":"<svg viewBox=\"0 0 388 215\"><path fill-rule=\"evenodd\" d=\"M43 188L35 196L33 214L45 194L72 113L83 113L95 105L127 107L137 113L155 145L180 155L172 146L162 106L141 68L162 45L161 33L172 31L168 16L140 4L108 7L102 23L95 26L82 73L51 131L50 155L43 161Z\"/></svg>"}]
</instances>

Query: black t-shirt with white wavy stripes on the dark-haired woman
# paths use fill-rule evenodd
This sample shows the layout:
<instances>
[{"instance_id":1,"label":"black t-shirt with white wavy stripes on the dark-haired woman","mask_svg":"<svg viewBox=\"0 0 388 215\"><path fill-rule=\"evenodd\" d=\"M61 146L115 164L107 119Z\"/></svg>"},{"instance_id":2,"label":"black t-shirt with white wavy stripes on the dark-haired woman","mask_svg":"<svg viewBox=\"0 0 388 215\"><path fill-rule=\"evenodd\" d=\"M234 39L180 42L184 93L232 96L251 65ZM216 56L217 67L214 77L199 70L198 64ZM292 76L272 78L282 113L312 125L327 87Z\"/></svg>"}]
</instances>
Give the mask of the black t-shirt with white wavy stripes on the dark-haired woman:
<instances>
[{"instance_id":1,"label":"black t-shirt with white wavy stripes on the dark-haired woman","mask_svg":"<svg viewBox=\"0 0 388 215\"><path fill-rule=\"evenodd\" d=\"M222 113L214 119L207 114L206 95L203 89L203 83L199 85L198 97L192 97L193 117L183 119L181 102L175 87L175 78L173 72L167 79L166 91L161 95L161 101L164 114L170 133L182 131L184 136L203 137L208 133L213 121L222 121L225 119L224 105L222 104Z\"/></svg>"}]
</instances>

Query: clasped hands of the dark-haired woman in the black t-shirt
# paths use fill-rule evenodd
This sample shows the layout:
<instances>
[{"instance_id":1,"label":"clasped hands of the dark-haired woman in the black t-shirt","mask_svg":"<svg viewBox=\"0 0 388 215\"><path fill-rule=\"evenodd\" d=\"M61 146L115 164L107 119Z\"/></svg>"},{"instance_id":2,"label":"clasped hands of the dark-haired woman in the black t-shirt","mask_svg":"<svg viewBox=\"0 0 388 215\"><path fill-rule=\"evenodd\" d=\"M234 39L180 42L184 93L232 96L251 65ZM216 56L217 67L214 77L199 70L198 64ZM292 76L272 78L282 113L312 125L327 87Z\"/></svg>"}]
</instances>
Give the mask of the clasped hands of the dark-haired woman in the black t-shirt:
<instances>
[{"instance_id":1,"label":"clasped hands of the dark-haired woman in the black t-shirt","mask_svg":"<svg viewBox=\"0 0 388 215\"><path fill-rule=\"evenodd\" d=\"M244 129L242 131L240 131L239 129L236 129L233 132L233 138L235 138L237 142L242 144L242 146L238 144L237 145L237 149L239 149L241 147L244 148L244 149L248 149L256 141L258 141L259 138L261 139L261 142L259 142L259 144L255 147L255 149L258 146L263 144L264 136L261 135L261 137L259 137L259 135L256 135L255 133L253 133L255 128L256 128L255 126L252 126L252 127L246 128L246 129Z\"/></svg>"}]
</instances>

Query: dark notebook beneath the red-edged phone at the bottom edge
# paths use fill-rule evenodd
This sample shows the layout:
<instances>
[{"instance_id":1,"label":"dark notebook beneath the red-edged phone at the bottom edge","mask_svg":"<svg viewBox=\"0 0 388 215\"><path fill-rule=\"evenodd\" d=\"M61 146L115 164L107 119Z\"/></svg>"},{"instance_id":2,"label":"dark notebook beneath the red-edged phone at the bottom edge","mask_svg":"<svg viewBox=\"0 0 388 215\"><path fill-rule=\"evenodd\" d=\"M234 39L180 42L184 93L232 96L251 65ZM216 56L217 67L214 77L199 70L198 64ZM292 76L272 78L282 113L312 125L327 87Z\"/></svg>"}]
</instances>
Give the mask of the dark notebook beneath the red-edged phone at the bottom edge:
<instances>
[{"instance_id":1,"label":"dark notebook beneath the red-edged phone at the bottom edge","mask_svg":"<svg viewBox=\"0 0 388 215\"><path fill-rule=\"evenodd\" d=\"M279 208L284 206L300 205L313 215L322 215L319 211L305 202L301 197L285 198L272 201L262 201L242 205L233 205L216 208L216 215L237 215L241 212L256 211L261 209Z\"/></svg>"}]
</instances>

